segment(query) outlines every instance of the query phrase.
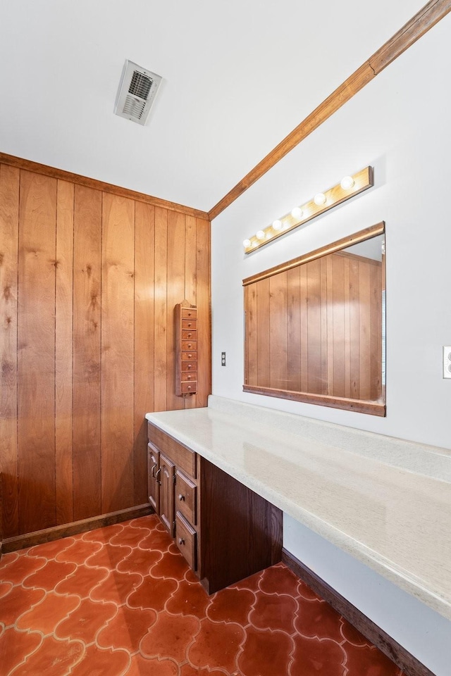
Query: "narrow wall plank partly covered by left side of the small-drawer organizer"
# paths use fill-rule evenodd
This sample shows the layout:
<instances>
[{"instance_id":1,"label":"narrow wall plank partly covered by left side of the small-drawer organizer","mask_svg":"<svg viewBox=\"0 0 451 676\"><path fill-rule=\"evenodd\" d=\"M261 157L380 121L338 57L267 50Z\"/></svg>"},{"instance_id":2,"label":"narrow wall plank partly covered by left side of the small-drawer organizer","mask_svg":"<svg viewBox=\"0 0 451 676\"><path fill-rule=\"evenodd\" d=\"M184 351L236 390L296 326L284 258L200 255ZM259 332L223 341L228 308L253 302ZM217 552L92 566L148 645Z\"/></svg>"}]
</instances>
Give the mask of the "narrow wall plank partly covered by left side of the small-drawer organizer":
<instances>
[{"instance_id":1,"label":"narrow wall plank partly covered by left side of the small-drawer organizer","mask_svg":"<svg viewBox=\"0 0 451 676\"><path fill-rule=\"evenodd\" d=\"M168 280L166 406L173 410L184 403L182 396L175 395L174 308L185 299L185 214L175 211L168 212Z\"/></svg>"}]
</instances>

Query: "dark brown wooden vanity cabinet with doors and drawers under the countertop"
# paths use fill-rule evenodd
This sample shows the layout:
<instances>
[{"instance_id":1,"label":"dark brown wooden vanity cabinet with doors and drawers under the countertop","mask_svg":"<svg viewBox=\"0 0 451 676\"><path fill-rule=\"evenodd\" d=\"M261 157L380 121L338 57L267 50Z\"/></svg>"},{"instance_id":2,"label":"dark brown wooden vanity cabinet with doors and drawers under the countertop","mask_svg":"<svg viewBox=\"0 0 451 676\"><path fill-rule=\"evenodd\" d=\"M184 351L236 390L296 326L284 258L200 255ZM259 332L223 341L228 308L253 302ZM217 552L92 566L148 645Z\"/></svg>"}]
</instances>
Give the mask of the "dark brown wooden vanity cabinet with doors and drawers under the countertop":
<instances>
[{"instance_id":1,"label":"dark brown wooden vanity cabinet with doors and drawers under the countertop","mask_svg":"<svg viewBox=\"0 0 451 676\"><path fill-rule=\"evenodd\" d=\"M151 504L209 594L280 561L280 509L152 423L148 434Z\"/></svg>"}]
</instances>

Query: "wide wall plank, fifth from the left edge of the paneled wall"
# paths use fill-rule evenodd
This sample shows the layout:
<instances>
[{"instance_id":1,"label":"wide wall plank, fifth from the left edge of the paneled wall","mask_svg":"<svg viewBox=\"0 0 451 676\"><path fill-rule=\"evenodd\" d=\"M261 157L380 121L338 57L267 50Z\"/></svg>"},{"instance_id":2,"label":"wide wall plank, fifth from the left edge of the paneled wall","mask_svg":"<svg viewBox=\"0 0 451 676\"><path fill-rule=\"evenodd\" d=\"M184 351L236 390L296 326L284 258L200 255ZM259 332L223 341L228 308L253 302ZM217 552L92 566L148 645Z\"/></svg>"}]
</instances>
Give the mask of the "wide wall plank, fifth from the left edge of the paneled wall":
<instances>
[{"instance_id":1,"label":"wide wall plank, fifth from the left edge of the paneled wall","mask_svg":"<svg viewBox=\"0 0 451 676\"><path fill-rule=\"evenodd\" d=\"M101 508L133 504L135 202L104 193L101 284Z\"/></svg>"}]
</instances>

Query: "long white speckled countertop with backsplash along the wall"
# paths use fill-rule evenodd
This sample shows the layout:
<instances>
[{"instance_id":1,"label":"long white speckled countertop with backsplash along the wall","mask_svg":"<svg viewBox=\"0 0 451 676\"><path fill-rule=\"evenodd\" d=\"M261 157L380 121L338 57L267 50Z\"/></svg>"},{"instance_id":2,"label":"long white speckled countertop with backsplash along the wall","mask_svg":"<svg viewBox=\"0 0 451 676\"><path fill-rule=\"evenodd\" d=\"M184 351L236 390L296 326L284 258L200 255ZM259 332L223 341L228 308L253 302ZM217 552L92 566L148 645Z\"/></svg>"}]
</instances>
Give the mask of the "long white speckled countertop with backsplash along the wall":
<instances>
[{"instance_id":1,"label":"long white speckled countertop with backsplash along the wall","mask_svg":"<svg viewBox=\"0 0 451 676\"><path fill-rule=\"evenodd\" d=\"M218 396L146 418L451 620L451 451Z\"/></svg>"}]
</instances>

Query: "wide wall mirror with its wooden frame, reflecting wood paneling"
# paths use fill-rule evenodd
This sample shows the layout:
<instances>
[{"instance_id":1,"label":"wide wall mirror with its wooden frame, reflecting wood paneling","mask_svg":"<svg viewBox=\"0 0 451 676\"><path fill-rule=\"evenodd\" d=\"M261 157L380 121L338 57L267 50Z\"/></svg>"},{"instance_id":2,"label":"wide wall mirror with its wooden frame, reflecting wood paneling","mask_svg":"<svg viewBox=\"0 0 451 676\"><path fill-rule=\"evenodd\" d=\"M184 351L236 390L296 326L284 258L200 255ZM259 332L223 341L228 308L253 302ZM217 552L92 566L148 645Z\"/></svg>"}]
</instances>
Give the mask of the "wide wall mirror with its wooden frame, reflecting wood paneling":
<instances>
[{"instance_id":1,"label":"wide wall mirror with its wooden frame, reflecting wood paneling","mask_svg":"<svg viewBox=\"0 0 451 676\"><path fill-rule=\"evenodd\" d=\"M385 227L243 280L245 392L385 415Z\"/></svg>"}]
</instances>

